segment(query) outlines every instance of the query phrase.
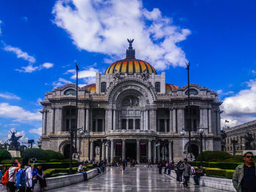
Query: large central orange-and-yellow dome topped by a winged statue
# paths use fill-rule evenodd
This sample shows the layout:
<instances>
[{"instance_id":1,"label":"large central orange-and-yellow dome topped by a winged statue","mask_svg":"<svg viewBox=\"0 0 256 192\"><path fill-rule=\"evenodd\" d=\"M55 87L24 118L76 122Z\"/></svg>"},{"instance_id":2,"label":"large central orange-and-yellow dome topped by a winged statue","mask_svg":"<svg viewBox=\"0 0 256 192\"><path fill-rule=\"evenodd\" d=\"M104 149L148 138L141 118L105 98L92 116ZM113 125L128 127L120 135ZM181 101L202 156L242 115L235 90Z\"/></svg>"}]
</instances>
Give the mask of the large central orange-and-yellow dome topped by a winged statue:
<instances>
[{"instance_id":1,"label":"large central orange-and-yellow dome topped by a winged statue","mask_svg":"<svg viewBox=\"0 0 256 192\"><path fill-rule=\"evenodd\" d=\"M127 49L127 57L120 61L116 61L105 71L105 74L113 74L115 70L120 73L135 74L143 73L144 70L148 74L157 74L156 69L148 64L146 61L135 58L135 50L132 48L132 42L134 39L127 39L129 42L129 48Z\"/></svg>"}]
</instances>

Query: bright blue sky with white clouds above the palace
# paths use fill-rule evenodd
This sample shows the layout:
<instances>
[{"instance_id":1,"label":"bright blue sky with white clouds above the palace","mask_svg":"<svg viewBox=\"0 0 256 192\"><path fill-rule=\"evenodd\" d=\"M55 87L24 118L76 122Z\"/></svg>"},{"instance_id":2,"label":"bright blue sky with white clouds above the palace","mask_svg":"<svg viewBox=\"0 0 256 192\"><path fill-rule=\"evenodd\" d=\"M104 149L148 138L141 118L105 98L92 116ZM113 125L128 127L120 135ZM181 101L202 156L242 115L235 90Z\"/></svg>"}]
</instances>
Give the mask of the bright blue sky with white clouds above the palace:
<instances>
[{"instance_id":1,"label":"bright blue sky with white clouds above the palace","mask_svg":"<svg viewBox=\"0 0 256 192\"><path fill-rule=\"evenodd\" d=\"M190 82L219 93L222 127L255 120L256 2L238 0L0 1L0 141L39 139L47 91L95 82L95 73L136 58L166 82ZM228 120L229 123L225 123Z\"/></svg>"}]
</instances>

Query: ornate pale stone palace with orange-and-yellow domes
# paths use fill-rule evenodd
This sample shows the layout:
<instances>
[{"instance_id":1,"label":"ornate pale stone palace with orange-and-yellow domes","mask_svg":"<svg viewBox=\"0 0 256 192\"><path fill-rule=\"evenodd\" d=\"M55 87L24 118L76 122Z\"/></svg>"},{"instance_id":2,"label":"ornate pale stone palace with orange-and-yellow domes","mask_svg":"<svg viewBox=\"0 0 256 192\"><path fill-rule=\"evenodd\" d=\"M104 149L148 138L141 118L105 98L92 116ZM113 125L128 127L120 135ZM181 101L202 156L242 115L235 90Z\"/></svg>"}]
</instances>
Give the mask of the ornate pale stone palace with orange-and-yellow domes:
<instances>
[{"instance_id":1,"label":"ornate pale stone palace with orange-and-yellow domes","mask_svg":"<svg viewBox=\"0 0 256 192\"><path fill-rule=\"evenodd\" d=\"M45 93L41 102L42 137L39 146L69 157L69 128L75 123L75 85L64 85ZM191 120L191 152L199 153L199 128L204 128L203 150L221 150L218 95L190 84L190 116L187 85L165 82L165 72L135 58L129 42L127 57L116 61L96 83L78 88L78 133L80 160L134 158L178 161L188 154L188 123ZM181 135L181 131L185 131Z\"/></svg>"}]
</instances>

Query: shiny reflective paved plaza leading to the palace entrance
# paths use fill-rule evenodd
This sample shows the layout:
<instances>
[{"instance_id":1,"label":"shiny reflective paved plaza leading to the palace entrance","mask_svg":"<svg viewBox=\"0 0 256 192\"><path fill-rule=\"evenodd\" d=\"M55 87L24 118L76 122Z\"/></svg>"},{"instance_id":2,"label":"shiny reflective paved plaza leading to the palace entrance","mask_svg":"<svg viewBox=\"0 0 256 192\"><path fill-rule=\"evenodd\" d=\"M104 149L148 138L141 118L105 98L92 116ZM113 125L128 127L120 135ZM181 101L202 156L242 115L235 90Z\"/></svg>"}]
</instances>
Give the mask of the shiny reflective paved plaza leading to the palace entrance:
<instances>
[{"instance_id":1,"label":"shiny reflective paved plaza leading to the palace entrance","mask_svg":"<svg viewBox=\"0 0 256 192\"><path fill-rule=\"evenodd\" d=\"M104 174L93 179L69 185L64 188L53 189L54 192L61 191L187 191L187 192L219 192L216 188L206 188L189 184L184 188L176 182L173 177L158 174L157 167L127 167L121 172L118 167L108 168Z\"/></svg>"}]
</instances>

